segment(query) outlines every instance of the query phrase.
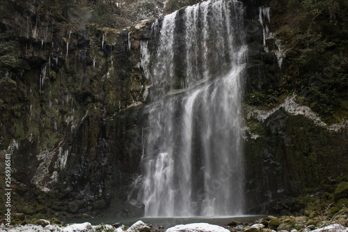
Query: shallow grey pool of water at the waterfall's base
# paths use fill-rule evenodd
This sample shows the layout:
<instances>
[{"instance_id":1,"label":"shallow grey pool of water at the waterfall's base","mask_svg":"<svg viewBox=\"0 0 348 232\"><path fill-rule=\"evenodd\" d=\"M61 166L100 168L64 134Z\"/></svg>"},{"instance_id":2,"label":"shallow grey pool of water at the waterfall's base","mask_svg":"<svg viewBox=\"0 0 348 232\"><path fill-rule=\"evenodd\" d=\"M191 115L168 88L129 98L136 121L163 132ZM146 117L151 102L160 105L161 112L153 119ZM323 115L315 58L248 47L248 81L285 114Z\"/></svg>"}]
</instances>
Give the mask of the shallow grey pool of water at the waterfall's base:
<instances>
[{"instance_id":1,"label":"shallow grey pool of water at the waterfall's base","mask_svg":"<svg viewBox=\"0 0 348 232\"><path fill-rule=\"evenodd\" d=\"M205 222L209 224L214 224L218 226L226 227L228 223L232 221L237 222L254 222L256 219L265 218L264 215L245 215L245 216L230 216L230 217L141 217L141 218L70 218L64 220L65 223L83 223L90 222L93 225L104 224L114 224L116 222L124 224L125 226L132 226L135 222L139 220L145 222L152 226L164 226L168 228L178 224L190 224Z\"/></svg>"}]
</instances>

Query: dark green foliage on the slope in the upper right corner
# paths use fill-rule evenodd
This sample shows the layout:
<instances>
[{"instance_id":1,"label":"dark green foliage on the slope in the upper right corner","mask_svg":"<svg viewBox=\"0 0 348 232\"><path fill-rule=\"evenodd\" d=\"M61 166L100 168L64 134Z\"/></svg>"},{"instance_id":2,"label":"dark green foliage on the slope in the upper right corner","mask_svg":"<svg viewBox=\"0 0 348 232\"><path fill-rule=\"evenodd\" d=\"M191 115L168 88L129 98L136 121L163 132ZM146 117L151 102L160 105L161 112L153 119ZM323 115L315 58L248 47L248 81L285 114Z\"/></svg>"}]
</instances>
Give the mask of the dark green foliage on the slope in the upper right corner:
<instances>
[{"instance_id":1,"label":"dark green foliage on the slope in the upper right corner","mask_svg":"<svg viewBox=\"0 0 348 232\"><path fill-rule=\"evenodd\" d=\"M287 6L289 23L277 31L288 48L287 75L326 123L340 123L348 117L348 0L290 0Z\"/></svg>"}]
</instances>

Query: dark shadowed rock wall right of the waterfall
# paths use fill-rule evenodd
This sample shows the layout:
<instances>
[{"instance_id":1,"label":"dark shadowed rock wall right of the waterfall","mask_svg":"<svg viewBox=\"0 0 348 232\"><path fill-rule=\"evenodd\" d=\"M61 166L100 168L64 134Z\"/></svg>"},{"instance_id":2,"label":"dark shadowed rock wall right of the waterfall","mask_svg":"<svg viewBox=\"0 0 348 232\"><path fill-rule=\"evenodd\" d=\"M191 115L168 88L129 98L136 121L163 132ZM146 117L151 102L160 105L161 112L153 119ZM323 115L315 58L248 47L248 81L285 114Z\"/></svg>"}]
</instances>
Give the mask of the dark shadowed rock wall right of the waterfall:
<instances>
[{"instance_id":1,"label":"dark shadowed rock wall right of the waterfall","mask_svg":"<svg viewBox=\"0 0 348 232\"><path fill-rule=\"evenodd\" d=\"M290 114L286 109L274 111L264 121L256 119L252 109L270 111L283 103L285 94L274 99L276 104L258 107L257 100L264 99L257 92L280 95L284 86L298 88L289 76L286 56L283 65L278 65L274 53L275 38L266 40L271 50L265 52L262 26L259 22L259 7L270 8L269 30L276 31L287 24L288 12L285 1L244 1L246 24L248 25L248 63L246 66L245 125L245 169L248 213L289 213L301 212L303 208L292 202L292 198L304 194L331 192L347 175L347 126L334 132L329 125L319 126L315 120L303 115ZM265 19L264 19L265 20ZM285 45L286 46L286 45ZM289 93L290 95L291 93ZM257 100L250 98L253 95ZM262 102L262 104L264 104ZM256 135L256 136L255 136ZM280 201L276 201L279 200Z\"/></svg>"}]
</instances>

